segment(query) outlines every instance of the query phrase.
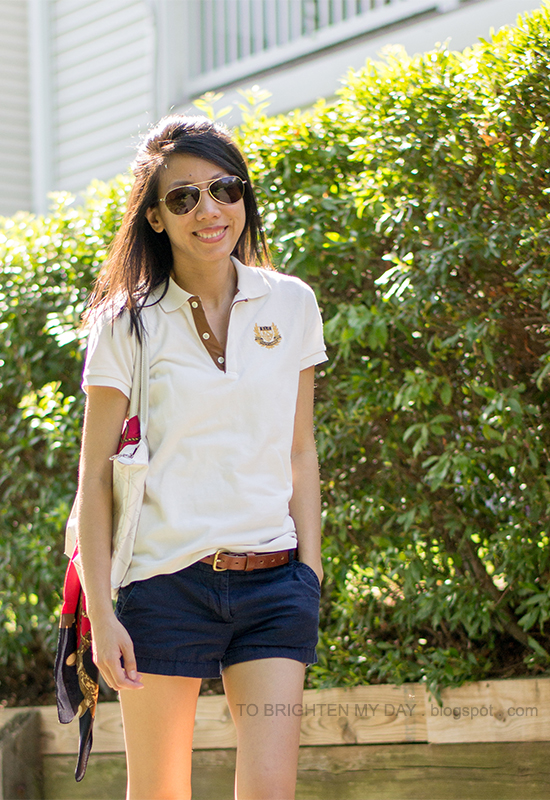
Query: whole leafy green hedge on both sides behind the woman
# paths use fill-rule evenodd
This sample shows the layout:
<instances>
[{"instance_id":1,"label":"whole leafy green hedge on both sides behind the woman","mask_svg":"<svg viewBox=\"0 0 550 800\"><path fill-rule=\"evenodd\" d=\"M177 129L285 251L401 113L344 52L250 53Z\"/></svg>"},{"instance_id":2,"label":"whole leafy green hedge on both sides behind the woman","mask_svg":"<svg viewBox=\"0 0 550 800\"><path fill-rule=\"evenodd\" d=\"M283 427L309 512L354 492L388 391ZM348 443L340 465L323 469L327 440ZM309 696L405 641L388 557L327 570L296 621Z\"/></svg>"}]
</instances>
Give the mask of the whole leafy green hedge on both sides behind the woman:
<instances>
[{"instance_id":1,"label":"whole leafy green hedge on both sides behind the woman","mask_svg":"<svg viewBox=\"0 0 550 800\"><path fill-rule=\"evenodd\" d=\"M462 54L388 51L335 103L260 109L238 133L275 260L315 287L330 346L311 686L550 667L549 119L545 4ZM77 210L63 196L51 219L2 228L0 677L13 694L51 663L82 409L75 326L126 188L97 184Z\"/></svg>"}]
</instances>

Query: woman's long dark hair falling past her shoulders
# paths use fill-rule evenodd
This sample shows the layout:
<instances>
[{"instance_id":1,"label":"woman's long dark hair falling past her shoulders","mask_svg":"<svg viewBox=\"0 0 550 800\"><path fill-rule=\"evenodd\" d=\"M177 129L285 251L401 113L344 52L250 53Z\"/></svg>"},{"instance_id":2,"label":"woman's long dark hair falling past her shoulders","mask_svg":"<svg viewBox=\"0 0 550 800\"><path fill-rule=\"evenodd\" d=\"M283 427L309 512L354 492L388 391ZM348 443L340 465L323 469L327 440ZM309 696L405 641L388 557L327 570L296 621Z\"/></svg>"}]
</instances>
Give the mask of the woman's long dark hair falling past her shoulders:
<instances>
[{"instance_id":1,"label":"woman's long dark hair falling past her shoulders","mask_svg":"<svg viewBox=\"0 0 550 800\"><path fill-rule=\"evenodd\" d=\"M131 329L139 337L141 309L157 286L168 286L173 266L170 240L166 231L153 231L145 212L158 202L160 170L175 153L204 158L246 181L246 221L232 255L250 266L271 266L246 161L229 131L206 117L164 117L138 147L126 212L96 281L85 322L98 307L109 306L115 315L127 309Z\"/></svg>"}]
</instances>

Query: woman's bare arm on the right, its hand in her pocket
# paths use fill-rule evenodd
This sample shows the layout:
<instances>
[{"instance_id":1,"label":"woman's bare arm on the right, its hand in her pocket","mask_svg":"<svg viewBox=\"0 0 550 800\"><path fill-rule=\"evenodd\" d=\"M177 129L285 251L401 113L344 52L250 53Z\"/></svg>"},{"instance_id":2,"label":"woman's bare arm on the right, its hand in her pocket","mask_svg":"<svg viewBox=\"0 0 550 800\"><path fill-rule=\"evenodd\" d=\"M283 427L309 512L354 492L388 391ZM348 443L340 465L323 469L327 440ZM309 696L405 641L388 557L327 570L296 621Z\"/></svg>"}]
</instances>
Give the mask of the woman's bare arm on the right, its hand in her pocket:
<instances>
[{"instance_id":1,"label":"woman's bare arm on the right, its hand in her pocket","mask_svg":"<svg viewBox=\"0 0 550 800\"><path fill-rule=\"evenodd\" d=\"M290 515L296 525L298 558L323 579L321 565L321 496L313 432L315 367L300 372L292 440Z\"/></svg>"}]
</instances>

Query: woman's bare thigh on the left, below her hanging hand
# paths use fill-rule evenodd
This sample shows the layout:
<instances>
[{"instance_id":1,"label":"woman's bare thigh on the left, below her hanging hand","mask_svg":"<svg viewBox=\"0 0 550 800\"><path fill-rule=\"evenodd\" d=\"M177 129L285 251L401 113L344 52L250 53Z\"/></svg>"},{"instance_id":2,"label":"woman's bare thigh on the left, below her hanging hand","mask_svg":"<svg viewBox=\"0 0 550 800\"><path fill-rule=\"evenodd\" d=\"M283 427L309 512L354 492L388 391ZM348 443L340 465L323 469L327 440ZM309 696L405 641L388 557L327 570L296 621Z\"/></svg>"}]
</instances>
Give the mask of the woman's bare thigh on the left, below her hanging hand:
<instances>
[{"instance_id":1,"label":"woman's bare thigh on the left, below her hanging hand","mask_svg":"<svg viewBox=\"0 0 550 800\"><path fill-rule=\"evenodd\" d=\"M143 689L120 692L127 800L189 800L200 678L143 674Z\"/></svg>"}]
</instances>

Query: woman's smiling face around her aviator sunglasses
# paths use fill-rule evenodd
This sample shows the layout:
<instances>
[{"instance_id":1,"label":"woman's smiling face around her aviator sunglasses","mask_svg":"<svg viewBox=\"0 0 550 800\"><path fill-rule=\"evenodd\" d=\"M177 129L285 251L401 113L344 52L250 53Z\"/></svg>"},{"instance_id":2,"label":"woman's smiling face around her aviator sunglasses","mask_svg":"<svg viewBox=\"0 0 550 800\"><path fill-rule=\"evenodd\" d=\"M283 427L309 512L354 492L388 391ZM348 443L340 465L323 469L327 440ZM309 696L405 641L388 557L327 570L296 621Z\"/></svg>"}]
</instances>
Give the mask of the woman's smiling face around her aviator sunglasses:
<instances>
[{"instance_id":1,"label":"woman's smiling face around her aviator sunglasses","mask_svg":"<svg viewBox=\"0 0 550 800\"><path fill-rule=\"evenodd\" d=\"M159 176L158 196L184 184L208 186L215 178L229 175L211 161L198 156L177 153L168 159ZM147 210L147 219L154 231L166 231L172 247L174 270L196 271L230 265L230 255L243 232L246 214L244 201L224 205L208 192L201 192L197 206L188 214L172 214L164 203Z\"/></svg>"}]
</instances>

